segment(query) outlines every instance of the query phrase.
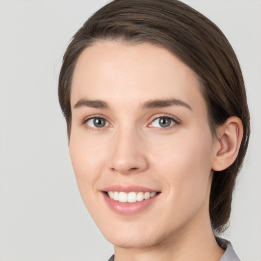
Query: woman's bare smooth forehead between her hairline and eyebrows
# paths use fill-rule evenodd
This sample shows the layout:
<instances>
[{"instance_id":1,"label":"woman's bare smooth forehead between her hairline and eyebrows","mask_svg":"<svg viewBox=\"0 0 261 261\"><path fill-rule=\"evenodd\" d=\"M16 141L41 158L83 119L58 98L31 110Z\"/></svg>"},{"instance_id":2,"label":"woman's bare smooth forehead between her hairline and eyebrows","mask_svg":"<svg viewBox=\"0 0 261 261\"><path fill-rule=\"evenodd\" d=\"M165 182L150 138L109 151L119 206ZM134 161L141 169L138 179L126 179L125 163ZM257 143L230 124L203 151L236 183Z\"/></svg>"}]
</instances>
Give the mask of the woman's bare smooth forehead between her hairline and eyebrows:
<instances>
[{"instance_id":1,"label":"woman's bare smooth forehead between her hairline and eyebrows","mask_svg":"<svg viewBox=\"0 0 261 261\"><path fill-rule=\"evenodd\" d=\"M191 107L204 105L194 71L167 49L149 43L105 41L87 47L76 63L71 88L72 106L81 98L133 105L169 97Z\"/></svg>"}]
</instances>

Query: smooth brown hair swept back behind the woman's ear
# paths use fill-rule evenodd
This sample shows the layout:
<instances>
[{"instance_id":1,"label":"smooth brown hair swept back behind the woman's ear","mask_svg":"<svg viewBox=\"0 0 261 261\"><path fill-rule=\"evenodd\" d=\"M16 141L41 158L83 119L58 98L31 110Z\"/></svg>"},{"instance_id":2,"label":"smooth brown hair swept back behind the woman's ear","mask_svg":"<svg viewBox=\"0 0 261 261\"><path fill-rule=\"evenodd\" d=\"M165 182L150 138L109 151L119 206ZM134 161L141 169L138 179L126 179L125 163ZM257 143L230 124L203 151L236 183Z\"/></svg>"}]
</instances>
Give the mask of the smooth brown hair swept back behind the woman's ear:
<instances>
[{"instance_id":1,"label":"smooth brown hair swept back behind the woman's ear","mask_svg":"<svg viewBox=\"0 0 261 261\"><path fill-rule=\"evenodd\" d=\"M59 77L59 101L71 129L70 88L82 51L102 40L149 42L163 46L197 74L208 109L210 128L230 116L244 127L239 154L227 169L215 172L210 195L210 218L215 232L226 229L237 174L250 134L244 80L234 51L220 29L205 16L176 0L115 0L94 13L72 38Z\"/></svg>"}]
</instances>

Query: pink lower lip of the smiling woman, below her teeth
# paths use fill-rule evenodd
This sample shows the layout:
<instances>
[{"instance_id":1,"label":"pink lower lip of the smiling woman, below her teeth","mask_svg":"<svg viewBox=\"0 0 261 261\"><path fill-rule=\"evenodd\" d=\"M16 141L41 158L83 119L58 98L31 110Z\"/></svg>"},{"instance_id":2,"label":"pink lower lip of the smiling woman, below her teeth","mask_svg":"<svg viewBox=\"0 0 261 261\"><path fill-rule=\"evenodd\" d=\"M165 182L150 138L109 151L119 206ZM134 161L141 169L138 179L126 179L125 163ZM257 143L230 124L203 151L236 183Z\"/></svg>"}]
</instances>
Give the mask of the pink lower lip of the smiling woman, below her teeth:
<instances>
[{"instance_id":1,"label":"pink lower lip of the smiling woman, below her teeth","mask_svg":"<svg viewBox=\"0 0 261 261\"><path fill-rule=\"evenodd\" d=\"M109 205L112 211L117 214L124 216L136 215L146 208L148 208L159 196L156 194L154 197L149 199L144 199L142 201L136 201L135 203L119 202L111 199L107 193L102 193L105 198L106 203Z\"/></svg>"}]
</instances>

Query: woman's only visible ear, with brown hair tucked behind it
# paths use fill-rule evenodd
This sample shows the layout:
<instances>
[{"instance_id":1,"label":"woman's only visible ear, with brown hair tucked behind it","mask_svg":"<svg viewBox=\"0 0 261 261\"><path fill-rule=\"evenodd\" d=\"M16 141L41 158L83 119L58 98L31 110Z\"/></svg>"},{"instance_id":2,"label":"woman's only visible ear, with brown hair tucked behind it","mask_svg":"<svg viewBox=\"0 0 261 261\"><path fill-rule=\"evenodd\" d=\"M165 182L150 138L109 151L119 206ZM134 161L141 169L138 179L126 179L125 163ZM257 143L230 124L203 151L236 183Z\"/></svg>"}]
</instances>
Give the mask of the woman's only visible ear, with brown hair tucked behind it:
<instances>
[{"instance_id":1,"label":"woman's only visible ear, with brown hair tucked behind it","mask_svg":"<svg viewBox=\"0 0 261 261\"><path fill-rule=\"evenodd\" d=\"M236 160L243 137L243 124L239 117L229 117L218 127L212 169L221 171Z\"/></svg>"}]
</instances>

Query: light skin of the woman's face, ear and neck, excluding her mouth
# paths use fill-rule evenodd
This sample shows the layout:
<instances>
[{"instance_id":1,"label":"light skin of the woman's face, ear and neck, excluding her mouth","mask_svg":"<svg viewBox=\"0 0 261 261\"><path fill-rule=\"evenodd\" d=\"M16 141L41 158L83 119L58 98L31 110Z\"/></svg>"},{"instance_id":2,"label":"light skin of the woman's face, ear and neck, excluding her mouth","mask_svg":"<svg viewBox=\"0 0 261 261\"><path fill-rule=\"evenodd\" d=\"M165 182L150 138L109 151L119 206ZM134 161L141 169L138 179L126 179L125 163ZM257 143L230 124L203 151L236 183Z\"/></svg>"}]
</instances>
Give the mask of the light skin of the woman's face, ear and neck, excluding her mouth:
<instances>
[{"instance_id":1,"label":"light skin of the woman's face, ear and neck, excluding her mouth","mask_svg":"<svg viewBox=\"0 0 261 261\"><path fill-rule=\"evenodd\" d=\"M76 63L71 109L77 184L115 260L219 260L208 213L213 170L236 159L243 128L230 117L214 138L194 72L149 43L97 42ZM105 201L112 185L158 193L121 215Z\"/></svg>"}]
</instances>

